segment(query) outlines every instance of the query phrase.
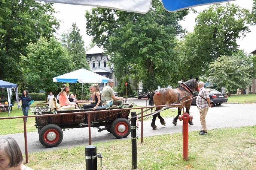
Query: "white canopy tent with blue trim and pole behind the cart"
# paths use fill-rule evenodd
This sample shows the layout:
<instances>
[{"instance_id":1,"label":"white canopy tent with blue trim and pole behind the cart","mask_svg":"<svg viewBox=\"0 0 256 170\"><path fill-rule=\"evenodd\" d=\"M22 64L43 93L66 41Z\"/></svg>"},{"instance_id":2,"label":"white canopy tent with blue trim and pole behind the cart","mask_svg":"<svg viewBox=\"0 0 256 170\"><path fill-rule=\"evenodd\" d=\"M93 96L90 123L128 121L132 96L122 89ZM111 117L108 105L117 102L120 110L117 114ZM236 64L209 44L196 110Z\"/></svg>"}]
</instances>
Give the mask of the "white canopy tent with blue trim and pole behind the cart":
<instances>
[{"instance_id":1,"label":"white canopy tent with blue trim and pole behind the cart","mask_svg":"<svg viewBox=\"0 0 256 170\"><path fill-rule=\"evenodd\" d=\"M108 78L81 68L79 70L54 77L53 82L82 83L81 96L83 99L83 83L106 83L108 82Z\"/></svg>"}]
</instances>

